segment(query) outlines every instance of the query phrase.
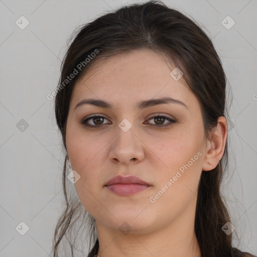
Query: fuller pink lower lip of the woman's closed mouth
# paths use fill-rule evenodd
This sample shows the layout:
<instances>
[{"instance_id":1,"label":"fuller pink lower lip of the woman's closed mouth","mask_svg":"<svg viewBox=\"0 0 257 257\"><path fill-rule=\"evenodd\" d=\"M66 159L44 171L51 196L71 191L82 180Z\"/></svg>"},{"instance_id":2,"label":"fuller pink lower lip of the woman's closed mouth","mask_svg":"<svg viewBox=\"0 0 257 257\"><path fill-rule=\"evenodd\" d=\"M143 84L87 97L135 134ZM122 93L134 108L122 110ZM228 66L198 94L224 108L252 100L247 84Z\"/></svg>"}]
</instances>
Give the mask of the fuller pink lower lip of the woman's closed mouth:
<instances>
[{"instance_id":1,"label":"fuller pink lower lip of the woman's closed mouth","mask_svg":"<svg viewBox=\"0 0 257 257\"><path fill-rule=\"evenodd\" d=\"M106 187L117 195L133 195L146 190L150 186L141 184L113 184Z\"/></svg>"}]
</instances>

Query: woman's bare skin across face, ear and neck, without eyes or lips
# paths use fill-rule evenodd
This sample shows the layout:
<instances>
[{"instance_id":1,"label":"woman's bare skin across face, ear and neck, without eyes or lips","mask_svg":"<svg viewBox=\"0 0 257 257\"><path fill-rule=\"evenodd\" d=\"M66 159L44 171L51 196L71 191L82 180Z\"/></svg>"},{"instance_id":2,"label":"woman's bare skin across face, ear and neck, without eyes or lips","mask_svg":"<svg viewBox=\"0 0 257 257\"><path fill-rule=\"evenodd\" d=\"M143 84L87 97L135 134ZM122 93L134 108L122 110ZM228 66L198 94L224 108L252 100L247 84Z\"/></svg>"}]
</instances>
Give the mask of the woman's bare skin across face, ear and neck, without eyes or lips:
<instances>
[{"instance_id":1,"label":"woman's bare skin across face, ear and neck, without eyes or lips","mask_svg":"<svg viewBox=\"0 0 257 257\"><path fill-rule=\"evenodd\" d=\"M136 50L97 60L76 82L67 119L66 146L72 169L79 175L74 184L85 209L95 218L98 256L199 257L194 233L197 188L202 170L215 168L224 153L227 122L219 117L210 141L205 139L201 107L186 85L170 76L175 65L165 55ZM142 110L142 100L173 97L188 108L159 104ZM103 99L112 109L84 104L83 99ZM105 119L82 124L85 117ZM165 115L177 120L150 119ZM126 118L132 127L123 132L118 124ZM102 124L104 123L104 124ZM179 168L197 153L202 155L185 169L154 203L155 196ZM135 175L151 187L131 196L110 192L105 183L116 175ZM167 187L166 187L167 188ZM128 233L120 231L122 223Z\"/></svg>"}]
</instances>

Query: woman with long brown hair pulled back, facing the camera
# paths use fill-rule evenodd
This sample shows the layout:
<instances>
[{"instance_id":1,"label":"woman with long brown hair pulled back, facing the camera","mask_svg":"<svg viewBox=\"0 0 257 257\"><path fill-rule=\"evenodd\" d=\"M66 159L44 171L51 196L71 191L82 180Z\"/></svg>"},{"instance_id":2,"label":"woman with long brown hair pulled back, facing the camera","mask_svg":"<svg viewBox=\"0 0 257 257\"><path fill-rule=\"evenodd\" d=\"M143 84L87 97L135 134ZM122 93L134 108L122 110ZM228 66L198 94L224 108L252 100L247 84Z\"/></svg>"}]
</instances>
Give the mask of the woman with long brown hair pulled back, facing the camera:
<instances>
[{"instance_id":1,"label":"woman with long brown hair pulled back, facing the camera","mask_svg":"<svg viewBox=\"0 0 257 257\"><path fill-rule=\"evenodd\" d=\"M252 256L232 247L220 193L226 78L194 22L155 1L106 14L80 29L59 82L66 209L54 256L64 237L72 256L85 239L72 242L72 228L89 231L88 257Z\"/></svg>"}]
</instances>

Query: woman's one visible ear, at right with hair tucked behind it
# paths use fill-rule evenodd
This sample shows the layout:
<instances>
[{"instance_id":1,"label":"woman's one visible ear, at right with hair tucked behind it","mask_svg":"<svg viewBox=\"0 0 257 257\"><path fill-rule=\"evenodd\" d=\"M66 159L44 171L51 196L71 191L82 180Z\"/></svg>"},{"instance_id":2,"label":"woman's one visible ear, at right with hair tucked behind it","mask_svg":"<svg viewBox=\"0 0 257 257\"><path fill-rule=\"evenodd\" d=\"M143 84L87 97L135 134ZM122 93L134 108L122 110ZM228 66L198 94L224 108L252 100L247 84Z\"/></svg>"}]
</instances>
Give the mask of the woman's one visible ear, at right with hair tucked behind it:
<instances>
[{"instance_id":1,"label":"woman's one visible ear, at right with hair tucked behind it","mask_svg":"<svg viewBox=\"0 0 257 257\"><path fill-rule=\"evenodd\" d=\"M218 117L215 131L211 135L210 141L206 143L203 171L213 170L224 154L227 139L227 121L223 116Z\"/></svg>"}]
</instances>

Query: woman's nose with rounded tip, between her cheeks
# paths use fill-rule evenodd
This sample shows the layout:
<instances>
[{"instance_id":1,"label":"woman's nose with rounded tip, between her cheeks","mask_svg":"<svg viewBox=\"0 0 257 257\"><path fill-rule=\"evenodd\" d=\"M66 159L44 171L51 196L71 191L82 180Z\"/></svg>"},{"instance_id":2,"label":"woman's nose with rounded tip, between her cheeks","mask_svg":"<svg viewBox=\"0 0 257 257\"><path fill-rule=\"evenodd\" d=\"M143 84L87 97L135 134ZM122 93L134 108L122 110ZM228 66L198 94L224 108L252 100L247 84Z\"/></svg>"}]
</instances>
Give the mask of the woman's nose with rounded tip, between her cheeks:
<instances>
[{"instance_id":1,"label":"woman's nose with rounded tip, between her cheeks","mask_svg":"<svg viewBox=\"0 0 257 257\"><path fill-rule=\"evenodd\" d=\"M127 132L118 128L109 151L111 162L129 165L144 159L145 144L134 132L133 127Z\"/></svg>"}]
</instances>

